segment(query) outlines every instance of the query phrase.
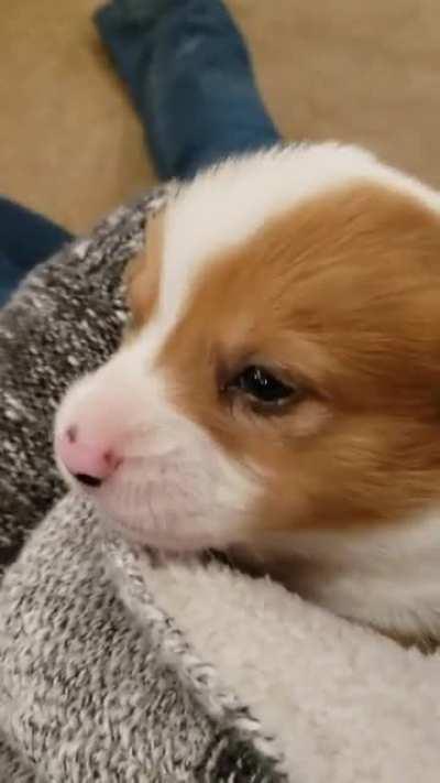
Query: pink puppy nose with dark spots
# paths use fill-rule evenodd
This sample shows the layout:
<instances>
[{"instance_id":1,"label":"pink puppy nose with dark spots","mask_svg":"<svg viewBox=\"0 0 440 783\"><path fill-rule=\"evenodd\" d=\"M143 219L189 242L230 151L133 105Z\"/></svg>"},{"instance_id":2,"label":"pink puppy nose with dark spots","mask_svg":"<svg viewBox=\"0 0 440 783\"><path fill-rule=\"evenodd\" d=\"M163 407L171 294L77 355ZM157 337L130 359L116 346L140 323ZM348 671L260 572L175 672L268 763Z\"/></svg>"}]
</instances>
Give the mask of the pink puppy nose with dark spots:
<instances>
[{"instance_id":1,"label":"pink puppy nose with dark spots","mask_svg":"<svg viewBox=\"0 0 440 783\"><path fill-rule=\"evenodd\" d=\"M57 452L68 472L88 487L99 487L122 461L108 444L81 437L76 426L63 433Z\"/></svg>"}]
</instances>

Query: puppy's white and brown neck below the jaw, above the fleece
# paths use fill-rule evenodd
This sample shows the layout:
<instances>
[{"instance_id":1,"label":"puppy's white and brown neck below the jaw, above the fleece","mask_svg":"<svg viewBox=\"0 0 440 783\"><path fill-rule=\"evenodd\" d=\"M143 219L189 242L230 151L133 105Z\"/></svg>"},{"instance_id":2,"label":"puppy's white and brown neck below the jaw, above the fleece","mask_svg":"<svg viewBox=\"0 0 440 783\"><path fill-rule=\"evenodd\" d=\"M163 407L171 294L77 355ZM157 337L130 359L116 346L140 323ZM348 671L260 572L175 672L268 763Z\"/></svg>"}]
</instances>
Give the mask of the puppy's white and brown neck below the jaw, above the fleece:
<instances>
[{"instance_id":1,"label":"puppy's white and brown neck below the jaw, above the fleece","mask_svg":"<svg viewBox=\"0 0 440 783\"><path fill-rule=\"evenodd\" d=\"M402 643L440 641L440 511L386 528L271 535L237 556Z\"/></svg>"}]
</instances>

